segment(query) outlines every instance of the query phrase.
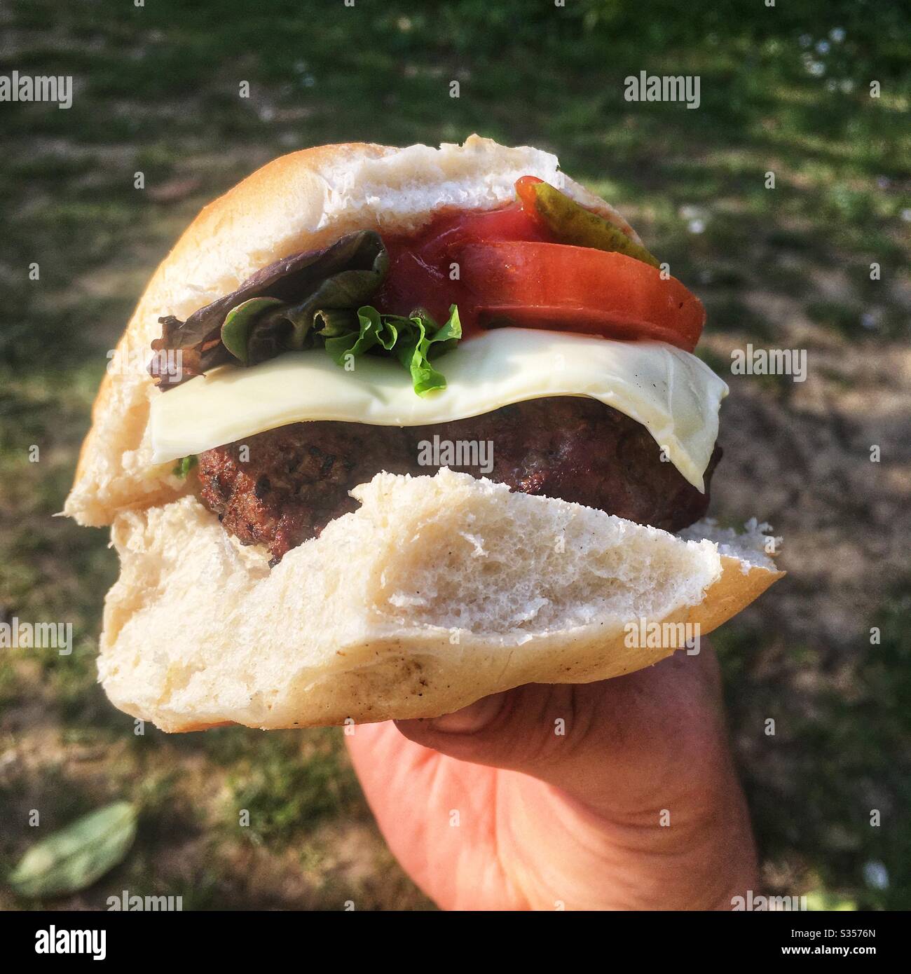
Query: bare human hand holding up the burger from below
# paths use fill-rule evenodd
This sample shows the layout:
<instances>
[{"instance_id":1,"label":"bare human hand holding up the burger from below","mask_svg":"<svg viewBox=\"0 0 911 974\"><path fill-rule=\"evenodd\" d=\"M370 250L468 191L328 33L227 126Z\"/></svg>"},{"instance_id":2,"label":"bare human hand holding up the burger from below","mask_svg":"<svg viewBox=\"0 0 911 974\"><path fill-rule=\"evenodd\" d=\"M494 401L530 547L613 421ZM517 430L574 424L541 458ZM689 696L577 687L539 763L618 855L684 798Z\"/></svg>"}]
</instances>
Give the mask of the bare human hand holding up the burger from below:
<instances>
[{"instance_id":1,"label":"bare human hand holding up the burger from below","mask_svg":"<svg viewBox=\"0 0 911 974\"><path fill-rule=\"evenodd\" d=\"M704 640L625 677L531 684L346 741L387 843L444 909L731 909L756 888Z\"/></svg>"}]
</instances>

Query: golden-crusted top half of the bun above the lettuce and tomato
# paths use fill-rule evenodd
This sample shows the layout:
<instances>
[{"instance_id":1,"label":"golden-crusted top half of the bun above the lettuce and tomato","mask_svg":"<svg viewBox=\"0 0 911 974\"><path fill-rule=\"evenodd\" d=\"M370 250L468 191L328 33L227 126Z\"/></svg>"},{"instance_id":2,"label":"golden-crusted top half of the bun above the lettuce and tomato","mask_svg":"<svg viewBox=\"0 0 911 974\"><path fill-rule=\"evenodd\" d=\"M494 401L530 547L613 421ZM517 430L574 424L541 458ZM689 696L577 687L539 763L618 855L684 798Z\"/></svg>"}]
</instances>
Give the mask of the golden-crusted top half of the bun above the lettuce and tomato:
<instances>
[{"instance_id":1,"label":"golden-crusted top half of the bun above the lettuce and tomato","mask_svg":"<svg viewBox=\"0 0 911 974\"><path fill-rule=\"evenodd\" d=\"M64 513L100 526L120 511L167 503L188 490L171 464L151 462L149 402L164 393L144 366L161 333L158 318L187 318L260 268L356 230L405 233L445 206L504 206L523 175L545 179L638 241L620 214L560 172L549 152L477 135L438 149L363 142L304 149L206 206L155 272L118 344Z\"/></svg>"}]
</instances>

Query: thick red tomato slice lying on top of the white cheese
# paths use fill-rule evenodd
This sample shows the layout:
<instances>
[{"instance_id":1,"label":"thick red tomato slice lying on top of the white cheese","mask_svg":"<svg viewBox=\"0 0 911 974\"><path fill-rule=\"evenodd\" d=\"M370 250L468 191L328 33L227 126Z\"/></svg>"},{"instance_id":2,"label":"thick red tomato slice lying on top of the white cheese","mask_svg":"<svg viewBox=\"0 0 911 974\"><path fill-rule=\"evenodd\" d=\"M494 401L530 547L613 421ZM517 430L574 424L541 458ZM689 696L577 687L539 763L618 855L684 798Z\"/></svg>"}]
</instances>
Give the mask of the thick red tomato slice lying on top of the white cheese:
<instances>
[{"instance_id":1,"label":"thick red tomato slice lying on top of the white cheese","mask_svg":"<svg viewBox=\"0 0 911 974\"><path fill-rule=\"evenodd\" d=\"M646 338L692 352L705 324L702 302L680 281L622 253L490 241L465 244L460 260L482 326Z\"/></svg>"}]
</instances>

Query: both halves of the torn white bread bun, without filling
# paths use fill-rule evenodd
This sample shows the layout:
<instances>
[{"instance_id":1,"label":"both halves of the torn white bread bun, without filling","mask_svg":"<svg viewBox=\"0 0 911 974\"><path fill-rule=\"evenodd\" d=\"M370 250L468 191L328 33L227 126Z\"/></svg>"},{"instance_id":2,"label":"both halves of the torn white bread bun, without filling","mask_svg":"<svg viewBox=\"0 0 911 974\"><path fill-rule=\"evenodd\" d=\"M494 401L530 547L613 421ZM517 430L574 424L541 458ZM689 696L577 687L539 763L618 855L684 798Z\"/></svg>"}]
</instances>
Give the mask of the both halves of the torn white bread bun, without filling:
<instances>
[{"instance_id":1,"label":"both halves of the torn white bread bun, without filling","mask_svg":"<svg viewBox=\"0 0 911 974\"><path fill-rule=\"evenodd\" d=\"M361 508L285 555L243 548L171 464L151 463L144 370L158 318L186 318L250 275L359 229L403 232L443 206L492 208L538 175L629 232L550 153L364 143L296 152L207 206L156 271L101 384L65 513L111 524L121 575L98 669L111 700L166 731L433 717L529 682L605 679L670 646L630 648L640 618L740 611L781 573L579 505L443 469L378 474ZM115 359L116 360L116 359ZM757 543L761 536L754 539Z\"/></svg>"}]
</instances>

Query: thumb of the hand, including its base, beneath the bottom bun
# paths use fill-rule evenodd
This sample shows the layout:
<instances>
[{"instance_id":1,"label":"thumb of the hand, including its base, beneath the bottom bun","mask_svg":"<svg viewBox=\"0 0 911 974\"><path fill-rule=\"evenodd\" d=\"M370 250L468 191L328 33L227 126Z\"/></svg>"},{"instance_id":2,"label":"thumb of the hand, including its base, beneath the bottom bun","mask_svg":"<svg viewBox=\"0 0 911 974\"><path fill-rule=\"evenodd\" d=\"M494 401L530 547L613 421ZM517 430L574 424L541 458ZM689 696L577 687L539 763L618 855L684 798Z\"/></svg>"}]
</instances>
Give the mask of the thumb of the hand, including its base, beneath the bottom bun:
<instances>
[{"instance_id":1,"label":"thumb of the hand, including its base, beneath the bottom bun","mask_svg":"<svg viewBox=\"0 0 911 974\"><path fill-rule=\"evenodd\" d=\"M676 654L599 683L528 684L430 720L405 737L459 761L529 774L585 805L635 818L730 772L714 657Z\"/></svg>"}]
</instances>

